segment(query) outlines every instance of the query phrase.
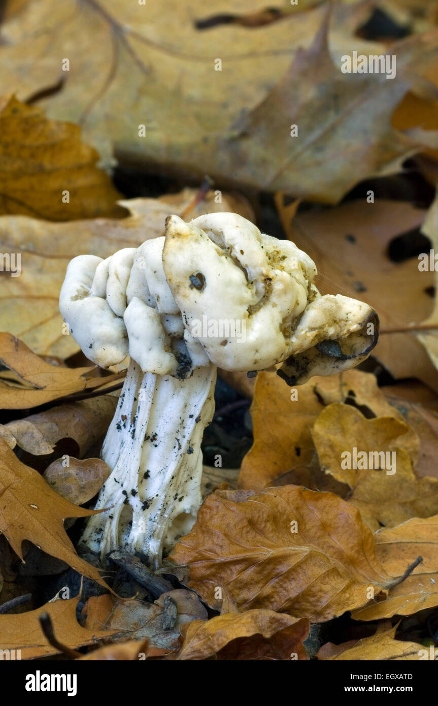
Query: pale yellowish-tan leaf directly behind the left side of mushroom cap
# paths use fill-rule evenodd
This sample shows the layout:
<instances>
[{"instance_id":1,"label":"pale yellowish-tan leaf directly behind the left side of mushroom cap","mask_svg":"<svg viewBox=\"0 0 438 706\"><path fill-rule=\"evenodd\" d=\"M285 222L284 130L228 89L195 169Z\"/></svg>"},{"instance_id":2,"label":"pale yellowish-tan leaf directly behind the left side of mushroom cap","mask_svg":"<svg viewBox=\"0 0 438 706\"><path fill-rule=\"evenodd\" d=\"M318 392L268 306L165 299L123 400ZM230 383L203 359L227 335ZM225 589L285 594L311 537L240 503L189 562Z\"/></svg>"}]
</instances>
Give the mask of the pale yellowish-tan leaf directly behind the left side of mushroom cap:
<instances>
[{"instance_id":1,"label":"pale yellowish-tan leaf directly behind the left side of mushroom cap","mask_svg":"<svg viewBox=\"0 0 438 706\"><path fill-rule=\"evenodd\" d=\"M1 52L1 50L0 50ZM101 128L102 129L102 126ZM195 189L161 198L133 198L120 203L128 217L120 220L96 218L51 223L24 216L0 217L0 252L20 253L20 277L0 277L0 330L10 331L39 355L65 359L79 350L71 335L63 335L59 292L68 263L89 253L107 258L122 248L137 248L147 239L164 235L166 217L183 215L197 195ZM188 217L215 211L232 211L249 220L254 215L245 199L214 192L190 208ZM186 219L187 220L187 219Z\"/></svg>"}]
</instances>

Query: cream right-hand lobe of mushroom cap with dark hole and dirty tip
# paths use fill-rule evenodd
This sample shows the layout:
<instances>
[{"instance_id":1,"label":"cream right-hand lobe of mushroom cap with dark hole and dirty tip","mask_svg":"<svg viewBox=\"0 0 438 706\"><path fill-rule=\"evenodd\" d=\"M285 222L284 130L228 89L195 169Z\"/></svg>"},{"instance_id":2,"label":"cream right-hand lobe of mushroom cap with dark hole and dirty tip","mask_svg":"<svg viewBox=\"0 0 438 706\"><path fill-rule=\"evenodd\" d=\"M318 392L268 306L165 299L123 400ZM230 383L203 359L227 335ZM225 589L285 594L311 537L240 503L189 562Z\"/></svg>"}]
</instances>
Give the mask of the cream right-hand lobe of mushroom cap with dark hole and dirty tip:
<instances>
[{"instance_id":1,"label":"cream right-hand lobe of mushroom cap with dark hole and dirty tip","mask_svg":"<svg viewBox=\"0 0 438 706\"><path fill-rule=\"evenodd\" d=\"M186 330L223 369L260 370L287 359L284 377L303 382L357 364L377 340L370 306L322 297L306 253L236 214L190 223L169 217L163 265Z\"/></svg>"}]
</instances>

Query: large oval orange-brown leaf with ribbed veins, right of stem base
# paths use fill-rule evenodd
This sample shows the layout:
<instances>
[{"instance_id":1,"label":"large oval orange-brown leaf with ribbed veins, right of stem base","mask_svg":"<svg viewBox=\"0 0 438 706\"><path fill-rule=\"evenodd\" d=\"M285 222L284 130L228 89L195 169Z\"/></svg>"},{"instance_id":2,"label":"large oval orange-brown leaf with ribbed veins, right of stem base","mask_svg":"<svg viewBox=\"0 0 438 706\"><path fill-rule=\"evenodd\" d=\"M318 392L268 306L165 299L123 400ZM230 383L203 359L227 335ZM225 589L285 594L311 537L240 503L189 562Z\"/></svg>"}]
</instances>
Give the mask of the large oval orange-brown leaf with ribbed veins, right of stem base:
<instances>
[{"instance_id":1,"label":"large oval orange-brown leaf with ribbed veins, right of stem base","mask_svg":"<svg viewBox=\"0 0 438 706\"><path fill-rule=\"evenodd\" d=\"M237 493L241 491L236 491ZM221 587L239 612L266 608L320 623L367 602L391 579L353 505L300 486L243 502L208 496L169 557L188 565L189 586L215 609Z\"/></svg>"}]
</instances>

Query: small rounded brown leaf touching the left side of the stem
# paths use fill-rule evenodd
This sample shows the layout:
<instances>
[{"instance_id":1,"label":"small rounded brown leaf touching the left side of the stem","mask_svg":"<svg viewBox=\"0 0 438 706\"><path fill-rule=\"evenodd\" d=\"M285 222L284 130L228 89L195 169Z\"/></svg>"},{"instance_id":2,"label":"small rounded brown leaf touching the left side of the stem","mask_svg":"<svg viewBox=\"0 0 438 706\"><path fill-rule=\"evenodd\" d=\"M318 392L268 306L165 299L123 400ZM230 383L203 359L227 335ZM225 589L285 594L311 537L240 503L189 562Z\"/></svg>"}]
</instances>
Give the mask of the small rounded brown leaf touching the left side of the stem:
<instances>
[{"instance_id":1,"label":"small rounded brown leaf touching the left side of the stem","mask_svg":"<svg viewBox=\"0 0 438 706\"><path fill-rule=\"evenodd\" d=\"M83 505L102 488L111 474L111 468L100 458L86 458L81 461L68 457L68 466L60 458L51 463L43 473L44 480L56 493L69 503Z\"/></svg>"}]
</instances>

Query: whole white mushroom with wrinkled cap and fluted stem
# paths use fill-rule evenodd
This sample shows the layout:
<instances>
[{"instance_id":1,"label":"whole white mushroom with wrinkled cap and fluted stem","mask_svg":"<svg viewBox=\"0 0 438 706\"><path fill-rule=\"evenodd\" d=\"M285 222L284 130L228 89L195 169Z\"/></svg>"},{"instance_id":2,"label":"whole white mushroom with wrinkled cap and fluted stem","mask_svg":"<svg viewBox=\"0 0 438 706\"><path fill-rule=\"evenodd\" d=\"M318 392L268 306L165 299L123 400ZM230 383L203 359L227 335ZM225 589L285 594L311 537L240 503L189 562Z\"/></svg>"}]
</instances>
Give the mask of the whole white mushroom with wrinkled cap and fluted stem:
<instances>
[{"instance_id":1,"label":"whole white mushroom with wrinkled cap and fluted stem","mask_svg":"<svg viewBox=\"0 0 438 706\"><path fill-rule=\"evenodd\" d=\"M290 384L357 364L377 340L367 304L321 297L315 264L289 241L233 213L185 223L107 260L75 258L60 309L83 351L130 364L102 457L111 476L83 542L102 561L123 544L162 561L201 503L201 442L216 366L256 371L284 361Z\"/></svg>"}]
</instances>

